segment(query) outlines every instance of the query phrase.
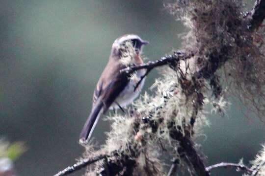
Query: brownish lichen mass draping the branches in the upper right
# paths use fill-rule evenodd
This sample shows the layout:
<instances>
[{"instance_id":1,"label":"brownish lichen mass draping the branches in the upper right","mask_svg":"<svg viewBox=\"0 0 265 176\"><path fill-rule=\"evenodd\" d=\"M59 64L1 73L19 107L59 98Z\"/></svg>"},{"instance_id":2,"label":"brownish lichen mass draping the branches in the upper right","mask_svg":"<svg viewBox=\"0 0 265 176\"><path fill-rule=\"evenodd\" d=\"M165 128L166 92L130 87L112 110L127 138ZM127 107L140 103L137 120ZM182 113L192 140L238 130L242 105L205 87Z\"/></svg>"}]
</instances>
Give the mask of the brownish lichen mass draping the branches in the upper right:
<instances>
[{"instance_id":1,"label":"brownish lichen mass draping the branches in the upper right","mask_svg":"<svg viewBox=\"0 0 265 176\"><path fill-rule=\"evenodd\" d=\"M169 0L165 0L169 1ZM193 51L197 68L206 62L219 65L228 93L261 119L265 114L265 27L250 32L242 0L174 0L165 3L169 12L190 30L183 37L184 50ZM194 70L194 69L192 69ZM218 110L217 110L218 111Z\"/></svg>"}]
</instances>

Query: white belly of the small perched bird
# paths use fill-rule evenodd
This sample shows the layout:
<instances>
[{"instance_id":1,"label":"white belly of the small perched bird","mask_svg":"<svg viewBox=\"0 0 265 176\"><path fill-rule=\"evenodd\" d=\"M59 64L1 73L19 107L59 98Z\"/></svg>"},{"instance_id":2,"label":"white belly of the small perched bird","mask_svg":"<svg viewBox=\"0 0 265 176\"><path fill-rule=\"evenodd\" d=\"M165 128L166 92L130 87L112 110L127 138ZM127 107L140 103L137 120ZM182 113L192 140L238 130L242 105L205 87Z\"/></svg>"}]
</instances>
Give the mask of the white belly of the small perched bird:
<instances>
[{"instance_id":1,"label":"white belly of the small perched bird","mask_svg":"<svg viewBox=\"0 0 265 176\"><path fill-rule=\"evenodd\" d=\"M137 71L136 75L140 79L142 75L145 74L145 70ZM119 94L119 96L115 99L115 101L110 106L110 109L119 109L119 106L116 104L118 103L121 107L129 105L132 101L140 94L143 85L145 82L145 78L141 81L139 86L134 91L136 84L138 83L137 80L130 80L128 85L123 89L123 91Z\"/></svg>"}]
</instances>

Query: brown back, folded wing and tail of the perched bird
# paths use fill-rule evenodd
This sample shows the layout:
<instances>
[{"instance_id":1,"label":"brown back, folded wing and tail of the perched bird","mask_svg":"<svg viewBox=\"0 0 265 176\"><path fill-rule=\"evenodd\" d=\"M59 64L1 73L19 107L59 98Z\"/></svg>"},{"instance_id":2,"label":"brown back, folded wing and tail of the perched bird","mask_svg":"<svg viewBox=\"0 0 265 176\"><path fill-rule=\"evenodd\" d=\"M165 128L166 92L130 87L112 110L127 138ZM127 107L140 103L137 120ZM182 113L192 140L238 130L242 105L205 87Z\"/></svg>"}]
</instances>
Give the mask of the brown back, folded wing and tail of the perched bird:
<instances>
[{"instance_id":1,"label":"brown back, folded wing and tail of the perched bird","mask_svg":"<svg viewBox=\"0 0 265 176\"><path fill-rule=\"evenodd\" d=\"M111 106L120 92L126 87L129 79L124 74L120 74L121 67L117 62L109 61L93 95L93 107L91 113L80 134L80 141L89 140L101 112L105 113Z\"/></svg>"}]
</instances>

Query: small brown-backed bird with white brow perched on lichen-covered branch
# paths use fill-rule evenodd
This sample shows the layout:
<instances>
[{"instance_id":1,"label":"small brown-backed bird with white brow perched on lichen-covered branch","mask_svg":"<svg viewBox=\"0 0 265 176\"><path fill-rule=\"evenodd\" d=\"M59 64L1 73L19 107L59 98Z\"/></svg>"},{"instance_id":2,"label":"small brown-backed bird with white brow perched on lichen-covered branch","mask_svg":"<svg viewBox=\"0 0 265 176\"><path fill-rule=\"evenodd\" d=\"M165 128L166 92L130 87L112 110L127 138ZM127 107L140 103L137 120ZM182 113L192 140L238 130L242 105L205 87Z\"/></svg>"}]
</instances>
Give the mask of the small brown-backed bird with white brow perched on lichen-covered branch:
<instances>
[{"instance_id":1,"label":"small brown-backed bird with white brow perched on lichen-covered branch","mask_svg":"<svg viewBox=\"0 0 265 176\"><path fill-rule=\"evenodd\" d=\"M146 70L137 70L132 78L120 73L120 70L143 63L140 55L145 44L149 42L134 34L121 36L112 44L108 63L94 91L91 113L80 134L81 143L88 142L102 113L108 109L122 109L139 95L144 80L136 89L135 86Z\"/></svg>"}]
</instances>

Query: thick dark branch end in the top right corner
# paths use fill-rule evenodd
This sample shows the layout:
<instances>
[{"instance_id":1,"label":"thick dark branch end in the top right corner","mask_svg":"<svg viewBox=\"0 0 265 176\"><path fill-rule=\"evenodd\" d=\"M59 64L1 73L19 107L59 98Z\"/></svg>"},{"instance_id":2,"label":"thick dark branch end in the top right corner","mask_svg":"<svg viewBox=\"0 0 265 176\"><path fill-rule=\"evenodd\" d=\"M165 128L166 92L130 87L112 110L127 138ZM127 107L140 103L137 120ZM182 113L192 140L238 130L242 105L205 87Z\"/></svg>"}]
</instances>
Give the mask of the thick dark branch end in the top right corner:
<instances>
[{"instance_id":1,"label":"thick dark branch end in the top right corner","mask_svg":"<svg viewBox=\"0 0 265 176\"><path fill-rule=\"evenodd\" d=\"M258 29L265 18L265 0L256 0L250 13L249 29Z\"/></svg>"}]
</instances>

